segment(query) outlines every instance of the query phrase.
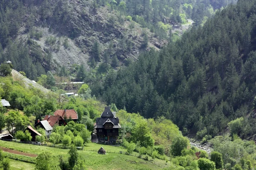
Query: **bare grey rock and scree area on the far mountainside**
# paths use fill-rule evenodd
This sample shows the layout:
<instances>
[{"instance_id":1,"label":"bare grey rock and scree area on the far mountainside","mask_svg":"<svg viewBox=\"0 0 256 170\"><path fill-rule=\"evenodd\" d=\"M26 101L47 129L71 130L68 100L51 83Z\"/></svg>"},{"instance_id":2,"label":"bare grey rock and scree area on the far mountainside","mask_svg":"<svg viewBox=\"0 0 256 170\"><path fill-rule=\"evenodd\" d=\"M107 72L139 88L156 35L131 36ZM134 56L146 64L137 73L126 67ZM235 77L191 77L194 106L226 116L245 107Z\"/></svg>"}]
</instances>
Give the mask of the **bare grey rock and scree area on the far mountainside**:
<instances>
[{"instance_id":1,"label":"bare grey rock and scree area on the far mountainside","mask_svg":"<svg viewBox=\"0 0 256 170\"><path fill-rule=\"evenodd\" d=\"M49 4L45 5L47 8L52 6L47 11L48 16L44 17L41 13L37 13L34 26L29 29L26 26L20 28L17 39L26 42L32 37L32 42L45 54L44 56L51 53L52 70L56 70L60 65L70 68L73 64L81 63L89 68L88 61L92 57L92 47L96 41L100 43L101 57L112 42L113 55L116 54L121 63L128 58L137 59L141 51L150 48L159 50L167 44L167 40L157 39L148 28L142 28L139 24L126 20L124 16L119 17L116 11L111 11L106 6L93 11L92 2L74 0L68 4L57 5L55 1L49 1ZM35 4L35 9L38 11L46 7L44 4ZM42 37L35 38L31 36L31 32L41 33ZM148 47L142 49L145 33L148 35ZM49 45L47 40L50 38L55 40ZM68 47L64 47L65 41ZM125 47L121 45L123 42ZM130 47L127 47L128 42L131 43ZM46 67L48 65L46 57L43 62L42 65Z\"/></svg>"}]
</instances>

